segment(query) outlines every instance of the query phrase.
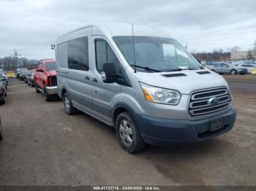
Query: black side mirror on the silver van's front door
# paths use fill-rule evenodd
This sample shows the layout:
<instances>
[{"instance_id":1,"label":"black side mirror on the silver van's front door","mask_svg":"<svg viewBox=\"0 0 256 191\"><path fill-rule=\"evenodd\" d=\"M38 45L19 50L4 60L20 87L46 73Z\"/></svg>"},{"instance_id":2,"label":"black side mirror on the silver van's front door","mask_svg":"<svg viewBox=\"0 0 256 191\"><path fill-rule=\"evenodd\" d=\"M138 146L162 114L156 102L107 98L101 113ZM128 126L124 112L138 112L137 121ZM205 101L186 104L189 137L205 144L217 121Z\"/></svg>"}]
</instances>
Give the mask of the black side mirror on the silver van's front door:
<instances>
[{"instance_id":1,"label":"black side mirror on the silver van's front door","mask_svg":"<svg viewBox=\"0 0 256 191\"><path fill-rule=\"evenodd\" d=\"M104 63L101 72L102 81L105 83L114 83L118 79L118 74L116 72L113 63Z\"/></svg>"}]
</instances>

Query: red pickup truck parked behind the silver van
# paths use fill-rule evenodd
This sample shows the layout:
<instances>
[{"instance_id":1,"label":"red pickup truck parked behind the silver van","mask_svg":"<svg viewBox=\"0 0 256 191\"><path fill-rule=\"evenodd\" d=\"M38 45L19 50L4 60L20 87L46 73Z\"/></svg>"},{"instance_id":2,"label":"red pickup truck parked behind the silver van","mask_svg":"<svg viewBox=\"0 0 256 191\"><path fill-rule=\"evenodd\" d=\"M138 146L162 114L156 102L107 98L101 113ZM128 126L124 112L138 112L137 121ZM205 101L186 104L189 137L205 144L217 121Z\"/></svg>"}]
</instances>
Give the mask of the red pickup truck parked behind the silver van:
<instances>
[{"instance_id":1,"label":"red pickup truck parked behind the silver van","mask_svg":"<svg viewBox=\"0 0 256 191\"><path fill-rule=\"evenodd\" d=\"M57 63L53 59L39 61L34 71L34 87L37 93L43 93L45 101L50 101L57 94Z\"/></svg>"}]
</instances>

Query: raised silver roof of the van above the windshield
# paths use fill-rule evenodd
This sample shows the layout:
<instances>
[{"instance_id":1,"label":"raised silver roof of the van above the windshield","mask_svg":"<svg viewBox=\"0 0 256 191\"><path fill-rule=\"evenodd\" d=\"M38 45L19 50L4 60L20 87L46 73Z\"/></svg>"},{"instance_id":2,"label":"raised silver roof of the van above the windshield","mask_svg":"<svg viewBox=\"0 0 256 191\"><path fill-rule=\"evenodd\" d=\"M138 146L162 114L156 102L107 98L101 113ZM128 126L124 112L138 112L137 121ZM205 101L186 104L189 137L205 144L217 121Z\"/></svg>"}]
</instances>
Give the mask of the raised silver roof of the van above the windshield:
<instances>
[{"instance_id":1,"label":"raised silver roof of the van above the windshield","mask_svg":"<svg viewBox=\"0 0 256 191\"><path fill-rule=\"evenodd\" d=\"M132 23L102 23L102 24L87 24L83 27L77 28L75 30L69 31L67 34L59 36L58 41L64 36L81 31L86 28L93 28L93 35L104 35L104 36L132 36ZM171 38L169 34L162 31L159 28L154 28L151 26L143 26L138 24L133 24L134 35L135 36L159 36Z\"/></svg>"}]
</instances>

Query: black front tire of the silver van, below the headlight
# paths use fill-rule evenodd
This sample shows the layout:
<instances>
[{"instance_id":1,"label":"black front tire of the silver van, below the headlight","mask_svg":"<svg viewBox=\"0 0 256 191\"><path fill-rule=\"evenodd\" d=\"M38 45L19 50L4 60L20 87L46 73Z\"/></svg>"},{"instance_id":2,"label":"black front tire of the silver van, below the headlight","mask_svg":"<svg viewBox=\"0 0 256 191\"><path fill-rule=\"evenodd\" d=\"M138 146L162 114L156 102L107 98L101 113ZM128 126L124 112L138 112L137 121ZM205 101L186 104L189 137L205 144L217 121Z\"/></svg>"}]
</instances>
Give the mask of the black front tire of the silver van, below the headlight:
<instances>
[{"instance_id":1,"label":"black front tire of the silver van, below the headlight","mask_svg":"<svg viewBox=\"0 0 256 191\"><path fill-rule=\"evenodd\" d=\"M132 135L128 133L129 139L132 139L132 143L127 144L127 139L122 139L122 135L124 135L126 130L121 130L122 124L127 122L127 127L129 130L132 130ZM129 134L129 135L128 135ZM140 135L140 130L138 129L138 125L136 125L135 120L133 120L132 116L128 112L122 112L118 115L116 119L116 136L121 147L130 154L140 152L146 147L146 143Z\"/></svg>"}]
</instances>

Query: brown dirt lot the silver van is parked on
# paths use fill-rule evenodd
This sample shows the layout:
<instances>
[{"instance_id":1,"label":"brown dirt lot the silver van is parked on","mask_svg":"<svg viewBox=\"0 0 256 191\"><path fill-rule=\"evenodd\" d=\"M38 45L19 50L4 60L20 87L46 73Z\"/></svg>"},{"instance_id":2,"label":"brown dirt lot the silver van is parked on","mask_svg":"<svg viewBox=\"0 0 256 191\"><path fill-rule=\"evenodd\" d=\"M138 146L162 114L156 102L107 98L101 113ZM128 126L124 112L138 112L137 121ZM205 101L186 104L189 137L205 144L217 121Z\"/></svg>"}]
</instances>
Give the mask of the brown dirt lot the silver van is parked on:
<instances>
[{"instance_id":1,"label":"brown dirt lot the silver van is parked on","mask_svg":"<svg viewBox=\"0 0 256 191\"><path fill-rule=\"evenodd\" d=\"M256 185L256 75L224 76L233 130L196 145L124 152L113 128L12 80L0 106L0 185Z\"/></svg>"}]
</instances>

